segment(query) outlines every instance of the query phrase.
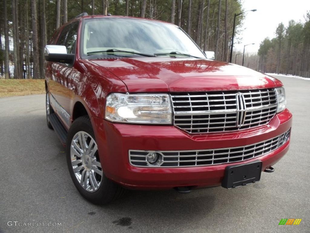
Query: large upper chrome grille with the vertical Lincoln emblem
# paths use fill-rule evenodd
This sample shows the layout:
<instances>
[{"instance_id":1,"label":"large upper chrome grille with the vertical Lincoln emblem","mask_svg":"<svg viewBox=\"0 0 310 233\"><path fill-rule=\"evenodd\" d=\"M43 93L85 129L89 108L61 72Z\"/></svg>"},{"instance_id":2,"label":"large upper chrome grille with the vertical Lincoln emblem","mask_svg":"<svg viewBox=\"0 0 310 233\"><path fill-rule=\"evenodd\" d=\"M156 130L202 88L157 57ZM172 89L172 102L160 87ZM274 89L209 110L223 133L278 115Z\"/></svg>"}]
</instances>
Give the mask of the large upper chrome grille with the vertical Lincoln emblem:
<instances>
[{"instance_id":1,"label":"large upper chrome grille with the vertical Lincoln emblem","mask_svg":"<svg viewBox=\"0 0 310 233\"><path fill-rule=\"evenodd\" d=\"M174 125L191 134L268 124L277 111L274 88L171 93Z\"/></svg>"}]
</instances>

